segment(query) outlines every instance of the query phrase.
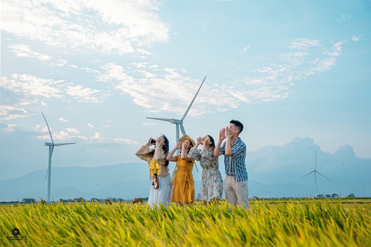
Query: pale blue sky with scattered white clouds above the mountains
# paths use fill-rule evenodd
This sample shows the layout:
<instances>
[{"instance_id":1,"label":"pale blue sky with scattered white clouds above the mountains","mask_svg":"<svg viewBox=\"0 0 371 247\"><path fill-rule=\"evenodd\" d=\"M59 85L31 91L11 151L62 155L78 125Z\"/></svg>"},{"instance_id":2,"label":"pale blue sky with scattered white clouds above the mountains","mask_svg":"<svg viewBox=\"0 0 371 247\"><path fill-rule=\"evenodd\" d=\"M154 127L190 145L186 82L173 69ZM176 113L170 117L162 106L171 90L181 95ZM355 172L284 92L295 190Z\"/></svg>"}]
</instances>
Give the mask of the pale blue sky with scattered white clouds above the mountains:
<instances>
[{"instance_id":1,"label":"pale blue sky with scattered white clouds above the mountains","mask_svg":"<svg viewBox=\"0 0 371 247\"><path fill-rule=\"evenodd\" d=\"M248 151L310 137L371 158L370 1L1 1L0 180L138 161L230 119ZM16 150L16 151L15 151ZM13 166L19 173L13 174Z\"/></svg>"}]
</instances>

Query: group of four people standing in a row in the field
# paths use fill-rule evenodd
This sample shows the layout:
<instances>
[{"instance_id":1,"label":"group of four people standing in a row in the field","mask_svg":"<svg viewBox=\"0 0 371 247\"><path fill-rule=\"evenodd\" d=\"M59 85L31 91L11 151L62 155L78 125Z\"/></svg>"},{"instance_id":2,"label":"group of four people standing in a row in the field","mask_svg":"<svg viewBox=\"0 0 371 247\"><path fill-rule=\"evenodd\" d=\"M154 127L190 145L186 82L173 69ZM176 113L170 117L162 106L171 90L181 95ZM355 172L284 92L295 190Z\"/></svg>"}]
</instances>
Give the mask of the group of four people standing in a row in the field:
<instances>
[{"instance_id":1,"label":"group of four people standing in a row in the field","mask_svg":"<svg viewBox=\"0 0 371 247\"><path fill-rule=\"evenodd\" d=\"M152 180L148 205L151 207L168 207L171 202L177 206L192 205L195 189L192 170L195 160L200 161L203 168L201 175L201 191L199 201L218 203L223 194L227 203L249 208L249 187L245 165L246 145L239 134L243 124L231 120L226 128L219 131L219 140L215 143L213 137L206 135L198 137L196 143L188 135L179 139L173 150L169 149L169 140L162 135L156 140L150 138L137 153L142 160L147 161L149 177ZM222 144L222 141L224 143ZM150 146L155 148L151 149ZM198 148L201 145L201 148ZM180 154L175 152L180 149ZM224 179L219 171L219 156L224 155ZM169 161L176 162L173 176L169 172Z\"/></svg>"}]
</instances>

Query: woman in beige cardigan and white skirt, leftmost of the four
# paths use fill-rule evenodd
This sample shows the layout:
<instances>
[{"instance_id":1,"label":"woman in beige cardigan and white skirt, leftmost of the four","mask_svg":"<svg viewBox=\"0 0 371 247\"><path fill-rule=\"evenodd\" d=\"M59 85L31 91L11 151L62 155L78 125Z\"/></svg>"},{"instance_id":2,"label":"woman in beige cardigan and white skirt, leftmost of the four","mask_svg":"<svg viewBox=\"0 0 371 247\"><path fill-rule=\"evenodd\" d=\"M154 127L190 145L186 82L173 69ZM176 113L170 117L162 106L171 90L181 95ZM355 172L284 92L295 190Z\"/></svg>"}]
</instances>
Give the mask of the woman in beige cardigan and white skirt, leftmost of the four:
<instances>
[{"instance_id":1,"label":"woman in beige cardigan and white skirt, leftmost of the four","mask_svg":"<svg viewBox=\"0 0 371 247\"><path fill-rule=\"evenodd\" d=\"M155 145L154 150L150 149L152 145ZM173 192L173 185L170 183L169 161L166 160L168 153L169 140L164 135L158 137L156 141L151 137L135 153L139 158L147 161L150 180L153 180L150 196L148 197L148 206L150 207L159 207L160 204L168 207L171 204L170 198Z\"/></svg>"}]
</instances>

